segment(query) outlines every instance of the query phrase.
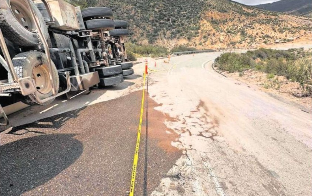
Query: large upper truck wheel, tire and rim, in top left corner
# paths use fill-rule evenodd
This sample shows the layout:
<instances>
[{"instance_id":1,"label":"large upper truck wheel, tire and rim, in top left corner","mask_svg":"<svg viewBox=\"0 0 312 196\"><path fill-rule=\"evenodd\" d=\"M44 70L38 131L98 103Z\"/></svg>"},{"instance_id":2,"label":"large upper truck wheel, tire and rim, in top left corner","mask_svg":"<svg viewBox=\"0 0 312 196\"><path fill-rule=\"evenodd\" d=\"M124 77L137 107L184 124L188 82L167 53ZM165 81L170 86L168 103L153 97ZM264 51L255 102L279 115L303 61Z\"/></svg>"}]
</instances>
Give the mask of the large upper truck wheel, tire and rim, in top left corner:
<instances>
[{"instance_id":1,"label":"large upper truck wheel, tire and rim, in top left corner","mask_svg":"<svg viewBox=\"0 0 312 196\"><path fill-rule=\"evenodd\" d=\"M25 0L6 0L11 9L0 9L0 27L4 37L20 46L38 46L38 36L34 21L28 10ZM36 5L30 1L31 7L39 19L43 35L48 38L46 22Z\"/></svg>"}]
</instances>

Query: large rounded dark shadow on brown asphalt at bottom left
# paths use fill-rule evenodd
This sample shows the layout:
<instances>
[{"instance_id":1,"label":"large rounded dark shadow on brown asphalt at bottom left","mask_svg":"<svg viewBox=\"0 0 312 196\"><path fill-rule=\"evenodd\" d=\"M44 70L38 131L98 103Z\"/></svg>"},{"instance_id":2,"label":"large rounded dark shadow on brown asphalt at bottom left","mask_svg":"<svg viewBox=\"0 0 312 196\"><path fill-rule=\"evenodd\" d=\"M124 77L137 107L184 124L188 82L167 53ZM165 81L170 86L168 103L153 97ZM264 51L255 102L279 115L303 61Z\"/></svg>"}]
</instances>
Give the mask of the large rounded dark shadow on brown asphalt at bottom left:
<instances>
[{"instance_id":1,"label":"large rounded dark shadow on brown asphalt at bottom left","mask_svg":"<svg viewBox=\"0 0 312 196\"><path fill-rule=\"evenodd\" d=\"M46 134L1 145L1 195L21 195L73 164L83 151L83 144L74 136Z\"/></svg>"}]
</instances>

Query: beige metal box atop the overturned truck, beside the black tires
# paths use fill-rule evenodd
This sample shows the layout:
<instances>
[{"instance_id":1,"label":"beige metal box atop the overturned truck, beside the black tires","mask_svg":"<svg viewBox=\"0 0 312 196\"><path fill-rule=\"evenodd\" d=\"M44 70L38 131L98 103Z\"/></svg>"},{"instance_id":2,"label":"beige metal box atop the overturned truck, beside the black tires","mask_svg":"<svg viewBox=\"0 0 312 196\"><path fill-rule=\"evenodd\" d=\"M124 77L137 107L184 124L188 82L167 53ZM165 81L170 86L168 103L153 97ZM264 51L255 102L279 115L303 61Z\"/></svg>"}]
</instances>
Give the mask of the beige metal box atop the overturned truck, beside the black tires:
<instances>
[{"instance_id":1,"label":"beige metal box atop the overturned truck, beside the black tires","mask_svg":"<svg viewBox=\"0 0 312 196\"><path fill-rule=\"evenodd\" d=\"M51 27L58 30L79 30L76 8L63 0L47 0L56 23Z\"/></svg>"}]
</instances>

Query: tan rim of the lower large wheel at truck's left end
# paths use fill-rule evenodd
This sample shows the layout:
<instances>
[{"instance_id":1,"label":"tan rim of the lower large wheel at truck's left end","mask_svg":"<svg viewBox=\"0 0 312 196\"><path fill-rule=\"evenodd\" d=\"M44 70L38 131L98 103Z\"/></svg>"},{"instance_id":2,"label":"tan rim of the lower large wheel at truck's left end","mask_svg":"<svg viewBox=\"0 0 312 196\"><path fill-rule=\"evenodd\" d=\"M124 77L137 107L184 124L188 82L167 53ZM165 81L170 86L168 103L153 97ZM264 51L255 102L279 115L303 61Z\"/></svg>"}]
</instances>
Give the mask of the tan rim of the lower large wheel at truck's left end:
<instances>
[{"instance_id":1,"label":"tan rim of the lower large wheel at truck's left end","mask_svg":"<svg viewBox=\"0 0 312 196\"><path fill-rule=\"evenodd\" d=\"M35 80L36 89L41 94L48 94L52 90L49 76L49 68L46 64L37 65L32 70L32 77Z\"/></svg>"}]
</instances>

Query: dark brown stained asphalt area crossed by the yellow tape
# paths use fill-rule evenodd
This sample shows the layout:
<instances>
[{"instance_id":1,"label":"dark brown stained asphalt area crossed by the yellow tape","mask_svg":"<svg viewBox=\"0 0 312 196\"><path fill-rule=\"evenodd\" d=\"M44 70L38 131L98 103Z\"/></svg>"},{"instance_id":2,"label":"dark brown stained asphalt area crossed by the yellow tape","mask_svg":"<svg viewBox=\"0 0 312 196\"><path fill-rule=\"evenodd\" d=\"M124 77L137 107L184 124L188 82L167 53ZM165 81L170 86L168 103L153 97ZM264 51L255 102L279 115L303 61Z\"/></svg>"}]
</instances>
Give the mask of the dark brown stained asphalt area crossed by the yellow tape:
<instances>
[{"instance_id":1,"label":"dark brown stained asphalt area crossed by the yellow tape","mask_svg":"<svg viewBox=\"0 0 312 196\"><path fill-rule=\"evenodd\" d=\"M1 195L127 195L141 96L137 91L1 133ZM142 133L136 195L151 193L181 156L161 138L166 117L149 102L153 133L148 139Z\"/></svg>"}]
</instances>

